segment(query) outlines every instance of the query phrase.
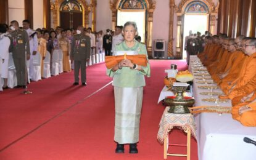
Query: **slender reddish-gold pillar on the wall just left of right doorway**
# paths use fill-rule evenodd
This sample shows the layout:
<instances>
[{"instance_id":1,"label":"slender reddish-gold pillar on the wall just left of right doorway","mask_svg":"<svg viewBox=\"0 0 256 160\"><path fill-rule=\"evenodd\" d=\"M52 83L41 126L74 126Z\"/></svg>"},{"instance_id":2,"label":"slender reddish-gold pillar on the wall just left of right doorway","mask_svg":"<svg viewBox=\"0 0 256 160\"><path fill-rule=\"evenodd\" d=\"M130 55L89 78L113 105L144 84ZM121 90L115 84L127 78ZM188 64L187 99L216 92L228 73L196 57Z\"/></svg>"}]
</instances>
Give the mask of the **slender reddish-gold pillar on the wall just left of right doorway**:
<instances>
[{"instance_id":1,"label":"slender reddish-gold pillar on the wall just left of right doorway","mask_svg":"<svg viewBox=\"0 0 256 160\"><path fill-rule=\"evenodd\" d=\"M168 58L173 55L173 16L174 16L175 1L170 0L170 22L169 22L169 41L168 41Z\"/></svg>"}]
</instances>

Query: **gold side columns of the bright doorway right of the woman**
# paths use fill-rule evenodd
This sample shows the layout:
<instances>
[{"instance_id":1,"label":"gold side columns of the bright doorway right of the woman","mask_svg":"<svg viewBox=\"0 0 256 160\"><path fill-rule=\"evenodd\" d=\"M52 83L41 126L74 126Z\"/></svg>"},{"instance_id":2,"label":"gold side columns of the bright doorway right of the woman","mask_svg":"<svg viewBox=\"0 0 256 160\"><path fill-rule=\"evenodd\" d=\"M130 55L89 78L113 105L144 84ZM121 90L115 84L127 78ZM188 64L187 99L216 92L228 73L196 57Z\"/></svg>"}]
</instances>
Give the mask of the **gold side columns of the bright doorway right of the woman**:
<instances>
[{"instance_id":1,"label":"gold side columns of the bright doorway right of the woman","mask_svg":"<svg viewBox=\"0 0 256 160\"><path fill-rule=\"evenodd\" d=\"M176 54L174 55L176 58L182 58L183 55L183 30L184 30L184 15L185 15L185 9L187 5L192 0L182 0L178 6L175 6L175 12L177 14L177 38L176 38ZM215 4L212 2L212 0L198 0L204 2L207 7L209 8L209 27L208 30L210 33L215 33L215 19L218 15L218 6L215 6Z\"/></svg>"}]
</instances>

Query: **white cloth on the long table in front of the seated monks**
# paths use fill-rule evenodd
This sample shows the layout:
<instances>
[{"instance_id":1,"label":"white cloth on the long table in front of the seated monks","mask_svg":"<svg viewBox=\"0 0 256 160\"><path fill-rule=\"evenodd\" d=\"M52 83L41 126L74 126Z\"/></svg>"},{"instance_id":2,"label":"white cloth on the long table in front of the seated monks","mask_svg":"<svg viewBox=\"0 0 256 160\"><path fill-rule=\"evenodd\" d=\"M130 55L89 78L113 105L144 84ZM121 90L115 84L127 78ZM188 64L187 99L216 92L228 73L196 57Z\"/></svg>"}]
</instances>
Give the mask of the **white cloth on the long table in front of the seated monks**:
<instances>
[{"instance_id":1,"label":"white cloth on the long table in front of the seated monks","mask_svg":"<svg viewBox=\"0 0 256 160\"><path fill-rule=\"evenodd\" d=\"M192 61L199 58L190 59L190 71L193 67ZM196 76L195 76L196 78ZM203 102L202 98L210 98L207 95L200 95L200 92L209 92L208 89L199 89L194 80L193 92L196 100L195 106L215 106L217 104ZM209 84L217 86L217 84ZM221 92L221 89L214 89L213 92ZM213 96L217 98L217 96ZM220 106L232 106L231 101L220 103ZM256 127L245 127L234 119L231 114L200 113L195 115L198 137L198 156L200 160L241 160L255 159L255 146L243 141L244 137L256 140Z\"/></svg>"}]
</instances>

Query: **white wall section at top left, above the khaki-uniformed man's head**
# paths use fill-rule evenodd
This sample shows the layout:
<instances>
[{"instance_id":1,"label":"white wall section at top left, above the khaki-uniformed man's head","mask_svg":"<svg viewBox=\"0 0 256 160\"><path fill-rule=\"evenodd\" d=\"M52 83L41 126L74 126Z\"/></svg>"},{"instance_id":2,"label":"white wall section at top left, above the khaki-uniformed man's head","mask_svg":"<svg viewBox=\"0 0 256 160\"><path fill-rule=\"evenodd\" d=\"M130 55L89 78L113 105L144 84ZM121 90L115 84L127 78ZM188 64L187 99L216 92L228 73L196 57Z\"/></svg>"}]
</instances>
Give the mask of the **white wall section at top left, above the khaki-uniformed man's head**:
<instances>
[{"instance_id":1,"label":"white wall section at top left, above the khaki-uniformed man's head","mask_svg":"<svg viewBox=\"0 0 256 160\"><path fill-rule=\"evenodd\" d=\"M22 26L22 21L25 19L24 0L8 0L9 5L9 23L12 20L17 20Z\"/></svg>"}]
</instances>

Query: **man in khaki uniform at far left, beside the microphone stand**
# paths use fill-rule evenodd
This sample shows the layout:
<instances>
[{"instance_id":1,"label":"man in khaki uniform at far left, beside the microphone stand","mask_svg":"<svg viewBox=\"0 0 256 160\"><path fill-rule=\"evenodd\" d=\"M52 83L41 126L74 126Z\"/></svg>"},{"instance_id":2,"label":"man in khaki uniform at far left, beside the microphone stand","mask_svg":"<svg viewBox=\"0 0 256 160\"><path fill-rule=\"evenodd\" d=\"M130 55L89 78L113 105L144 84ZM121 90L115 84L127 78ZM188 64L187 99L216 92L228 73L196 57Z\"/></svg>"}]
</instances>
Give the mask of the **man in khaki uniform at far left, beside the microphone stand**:
<instances>
[{"instance_id":1,"label":"man in khaki uniform at far left, beside the microphone stand","mask_svg":"<svg viewBox=\"0 0 256 160\"><path fill-rule=\"evenodd\" d=\"M19 23L16 20L10 22L10 29L13 30L10 35L12 36L11 50L12 56L14 57L14 65L17 74L17 87L25 88L25 67L27 60L30 59L30 42L28 39L28 33L25 30L19 28ZM27 48L26 48L27 47ZM27 53L27 60L25 60Z\"/></svg>"}]
</instances>

